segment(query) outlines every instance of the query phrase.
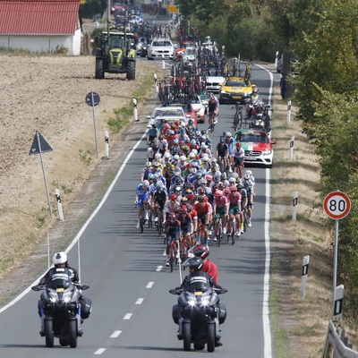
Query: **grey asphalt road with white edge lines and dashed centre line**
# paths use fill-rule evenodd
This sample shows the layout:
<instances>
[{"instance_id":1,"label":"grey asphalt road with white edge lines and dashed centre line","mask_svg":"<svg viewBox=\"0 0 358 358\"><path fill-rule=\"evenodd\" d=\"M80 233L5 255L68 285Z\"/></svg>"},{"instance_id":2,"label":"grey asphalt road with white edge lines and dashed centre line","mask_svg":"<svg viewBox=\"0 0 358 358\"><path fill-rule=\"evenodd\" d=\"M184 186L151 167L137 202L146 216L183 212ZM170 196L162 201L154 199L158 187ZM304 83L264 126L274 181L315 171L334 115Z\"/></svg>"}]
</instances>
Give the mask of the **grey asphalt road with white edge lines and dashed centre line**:
<instances>
[{"instance_id":1,"label":"grey asphalt road with white edge lines and dashed centre line","mask_svg":"<svg viewBox=\"0 0 358 358\"><path fill-rule=\"evenodd\" d=\"M254 66L252 81L268 102L268 72ZM214 146L223 131L231 130L234 110L220 107L219 124L212 133ZM205 124L200 124L204 128ZM143 133L138 133L138 139ZM183 357L183 341L176 338L177 326L171 318L176 296L168 290L179 286L187 271L166 268L162 238L155 228L143 234L136 229L134 192L145 163L145 141L139 143L128 163L113 183L107 199L96 215L82 228L79 243L69 251L73 267L78 267L81 248L81 282L90 285L84 294L92 299L93 311L83 324L84 335L78 347L46 348L39 337L38 293L30 291L17 303L0 313L0 349L6 358L103 357L146 358ZM221 286L228 289L221 296L227 319L222 328L220 357L268 358L268 185L269 170L252 168L256 177L256 200L252 227L234 243L217 248L210 243L209 258L217 263ZM65 350L65 352L64 352ZM185 356L208 354L192 351Z\"/></svg>"}]
</instances>

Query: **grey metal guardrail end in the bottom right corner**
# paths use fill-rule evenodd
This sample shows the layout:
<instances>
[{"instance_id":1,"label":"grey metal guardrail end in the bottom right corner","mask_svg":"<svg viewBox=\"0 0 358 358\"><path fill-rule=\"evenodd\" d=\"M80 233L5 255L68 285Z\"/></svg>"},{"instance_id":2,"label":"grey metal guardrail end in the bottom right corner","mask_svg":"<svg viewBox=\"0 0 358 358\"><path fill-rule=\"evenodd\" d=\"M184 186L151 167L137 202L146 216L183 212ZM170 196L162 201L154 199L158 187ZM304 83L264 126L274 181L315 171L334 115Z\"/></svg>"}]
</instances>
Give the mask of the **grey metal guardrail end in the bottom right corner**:
<instances>
[{"instance_id":1,"label":"grey metal guardrail end in the bottom right corner","mask_svg":"<svg viewBox=\"0 0 358 358\"><path fill-rule=\"evenodd\" d=\"M352 349L345 337L345 329L336 328L332 320L329 320L322 358L358 358L358 352Z\"/></svg>"}]
</instances>

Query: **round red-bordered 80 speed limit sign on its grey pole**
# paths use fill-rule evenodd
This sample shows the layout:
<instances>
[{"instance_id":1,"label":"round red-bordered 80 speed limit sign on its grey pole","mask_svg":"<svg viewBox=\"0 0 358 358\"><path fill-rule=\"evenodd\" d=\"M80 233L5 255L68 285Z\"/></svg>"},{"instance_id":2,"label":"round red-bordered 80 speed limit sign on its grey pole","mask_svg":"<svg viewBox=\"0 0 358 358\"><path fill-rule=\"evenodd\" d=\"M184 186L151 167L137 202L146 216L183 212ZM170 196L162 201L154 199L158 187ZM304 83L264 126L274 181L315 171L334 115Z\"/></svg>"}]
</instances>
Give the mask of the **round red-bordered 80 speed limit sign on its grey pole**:
<instances>
[{"instance_id":1,"label":"round red-bordered 80 speed limit sign on its grey pole","mask_svg":"<svg viewBox=\"0 0 358 358\"><path fill-rule=\"evenodd\" d=\"M335 252L333 258L333 300L332 306L335 311L336 288L337 288L337 260L338 260L338 226L339 219L348 215L351 210L351 200L344 192L330 192L323 200L323 209L328 217L335 219Z\"/></svg>"}]
</instances>

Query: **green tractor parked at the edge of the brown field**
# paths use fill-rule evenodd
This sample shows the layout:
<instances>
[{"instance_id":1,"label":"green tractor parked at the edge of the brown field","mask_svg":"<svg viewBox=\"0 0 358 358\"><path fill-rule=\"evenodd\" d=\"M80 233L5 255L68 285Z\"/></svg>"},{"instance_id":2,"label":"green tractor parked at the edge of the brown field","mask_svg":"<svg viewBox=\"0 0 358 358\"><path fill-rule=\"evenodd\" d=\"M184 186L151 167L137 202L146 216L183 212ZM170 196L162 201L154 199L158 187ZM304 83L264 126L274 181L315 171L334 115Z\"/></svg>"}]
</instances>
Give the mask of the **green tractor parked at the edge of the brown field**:
<instances>
[{"instance_id":1,"label":"green tractor parked at the edge of the brown field","mask_svg":"<svg viewBox=\"0 0 358 358\"><path fill-rule=\"evenodd\" d=\"M108 28L98 38L96 49L97 79L104 79L105 72L127 73L127 80L135 80L135 56L133 46L134 35L123 28Z\"/></svg>"}]
</instances>

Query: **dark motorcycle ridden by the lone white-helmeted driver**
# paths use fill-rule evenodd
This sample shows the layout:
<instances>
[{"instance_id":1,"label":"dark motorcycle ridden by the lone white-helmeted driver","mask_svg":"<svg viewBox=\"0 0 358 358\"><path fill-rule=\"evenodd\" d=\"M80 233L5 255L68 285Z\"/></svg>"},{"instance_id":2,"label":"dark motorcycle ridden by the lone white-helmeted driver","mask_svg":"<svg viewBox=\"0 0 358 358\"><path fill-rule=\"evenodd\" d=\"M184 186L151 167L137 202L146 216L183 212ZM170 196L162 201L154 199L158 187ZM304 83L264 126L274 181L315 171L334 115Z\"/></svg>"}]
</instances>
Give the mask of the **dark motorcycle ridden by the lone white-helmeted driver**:
<instances>
[{"instance_id":1,"label":"dark motorcycle ridden by the lone white-helmeted driver","mask_svg":"<svg viewBox=\"0 0 358 358\"><path fill-rule=\"evenodd\" d=\"M54 268L48 285L32 286L33 291L43 291L38 301L38 314L47 347L54 346L58 337L60 345L77 346L77 337L82 336L81 322L90 316L92 303L81 295L88 285L73 284L68 268Z\"/></svg>"}]
</instances>

